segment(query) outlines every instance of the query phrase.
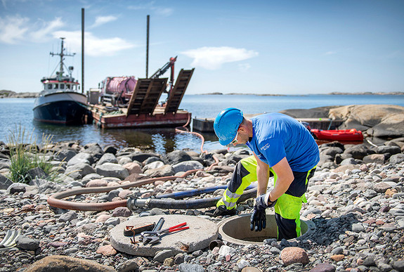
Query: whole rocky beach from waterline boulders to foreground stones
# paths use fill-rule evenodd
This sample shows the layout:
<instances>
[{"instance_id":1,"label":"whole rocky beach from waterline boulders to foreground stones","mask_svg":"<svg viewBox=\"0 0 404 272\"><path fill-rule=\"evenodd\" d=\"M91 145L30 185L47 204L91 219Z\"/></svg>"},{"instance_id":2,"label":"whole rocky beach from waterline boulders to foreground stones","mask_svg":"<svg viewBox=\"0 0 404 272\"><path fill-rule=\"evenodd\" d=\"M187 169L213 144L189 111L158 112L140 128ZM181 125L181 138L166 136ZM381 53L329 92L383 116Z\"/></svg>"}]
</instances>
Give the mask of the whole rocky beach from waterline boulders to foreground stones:
<instances>
[{"instance_id":1,"label":"whole rocky beach from waterline boulders to foreground stones","mask_svg":"<svg viewBox=\"0 0 404 272\"><path fill-rule=\"evenodd\" d=\"M382 118L378 124L381 122L387 121ZM382 131L377 124L367 125L370 133ZM384 130L391 135L400 133L397 126L394 133L393 129ZM110 203L130 195L148 198L224 186L235 164L250 155L249 150L175 150L159 155L98 143L48 144L34 150L44 151L41 158L53 166L53 176L34 168L27 173L29 183L25 184L9 179L13 146L0 143L0 241L8 231L19 232L13 245L0 242L0 271L404 271L404 138L390 138L379 140L377 145L371 141L319 145L320 163L308 185L308 202L301 209L315 230L304 238L278 242L267 238L259 245L223 240L223 245L211 249L188 252L184 248L174 253L167 248L152 257L119 252L112 246L111 230L125 221L153 215L197 216L215 224L224 218L211 216L214 207L61 209L48 205L48 197L65 190L113 186L107 193L65 198L70 202ZM210 167L214 157L219 163ZM184 176L186 171L192 174ZM116 188L163 176L174 177ZM218 189L212 195L222 193L223 189ZM252 199L240 202L238 214L249 214L252 205Z\"/></svg>"}]
</instances>

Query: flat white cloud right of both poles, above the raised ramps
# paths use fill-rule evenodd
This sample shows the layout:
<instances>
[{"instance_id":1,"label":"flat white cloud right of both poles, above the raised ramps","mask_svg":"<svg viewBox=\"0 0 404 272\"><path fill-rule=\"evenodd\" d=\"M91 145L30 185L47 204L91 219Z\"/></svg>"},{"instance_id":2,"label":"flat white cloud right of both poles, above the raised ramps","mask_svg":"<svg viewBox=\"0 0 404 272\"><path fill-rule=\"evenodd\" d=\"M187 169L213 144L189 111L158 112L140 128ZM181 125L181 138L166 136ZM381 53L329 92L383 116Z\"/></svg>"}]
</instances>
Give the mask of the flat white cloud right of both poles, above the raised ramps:
<instances>
[{"instance_id":1,"label":"flat white cloud right of both poles, above the raised ramps","mask_svg":"<svg viewBox=\"0 0 404 272\"><path fill-rule=\"evenodd\" d=\"M259 55L254 50L245 48L222 47L201 47L182 52L185 56L193 58L191 65L204 67L208 70L216 70L223 63L233 63L235 61L247 60Z\"/></svg>"}]
</instances>

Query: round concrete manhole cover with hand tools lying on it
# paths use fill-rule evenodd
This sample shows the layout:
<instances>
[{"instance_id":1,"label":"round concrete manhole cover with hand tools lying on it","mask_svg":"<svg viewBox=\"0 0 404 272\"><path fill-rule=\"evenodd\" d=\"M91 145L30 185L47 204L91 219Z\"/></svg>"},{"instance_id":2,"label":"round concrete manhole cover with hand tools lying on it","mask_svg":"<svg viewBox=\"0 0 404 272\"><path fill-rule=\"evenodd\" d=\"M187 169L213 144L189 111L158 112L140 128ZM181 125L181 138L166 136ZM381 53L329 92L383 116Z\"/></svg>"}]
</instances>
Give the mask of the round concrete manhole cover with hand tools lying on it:
<instances>
[{"instance_id":1,"label":"round concrete manhole cover with hand tools lying on it","mask_svg":"<svg viewBox=\"0 0 404 272\"><path fill-rule=\"evenodd\" d=\"M183 222L186 222L190 228L163 235L160 242L155 245L143 245L142 242L133 245L130 237L124 236L124 228L126 226L145 226L157 223L161 217L164 217L162 229L176 226ZM211 241L216 240L218 233L218 226L208 219L197 216L164 214L130 218L128 221L112 228L110 231L110 242L112 247L120 252L137 256L154 257L159 250L171 250L174 255L181 252L190 253L196 250L203 250L209 246ZM141 235L138 234L135 238L136 241L141 240Z\"/></svg>"}]
</instances>

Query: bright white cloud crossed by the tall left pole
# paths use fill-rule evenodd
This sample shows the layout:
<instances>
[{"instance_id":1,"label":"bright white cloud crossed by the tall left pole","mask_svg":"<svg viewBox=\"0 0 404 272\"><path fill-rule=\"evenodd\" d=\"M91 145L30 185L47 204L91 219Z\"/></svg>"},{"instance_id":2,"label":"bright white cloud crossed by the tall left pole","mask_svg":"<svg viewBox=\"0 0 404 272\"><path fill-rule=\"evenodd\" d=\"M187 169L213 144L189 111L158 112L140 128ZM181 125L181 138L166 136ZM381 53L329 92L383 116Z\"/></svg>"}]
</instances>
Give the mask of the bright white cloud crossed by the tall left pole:
<instances>
[{"instance_id":1,"label":"bright white cloud crossed by the tall left pole","mask_svg":"<svg viewBox=\"0 0 404 272\"><path fill-rule=\"evenodd\" d=\"M82 50L82 32L81 31L57 31L53 33L53 37L65 37L66 43L74 52ZM87 56L113 56L118 51L135 47L121 38L100 39L95 37L91 32L84 33L84 50Z\"/></svg>"}]
</instances>

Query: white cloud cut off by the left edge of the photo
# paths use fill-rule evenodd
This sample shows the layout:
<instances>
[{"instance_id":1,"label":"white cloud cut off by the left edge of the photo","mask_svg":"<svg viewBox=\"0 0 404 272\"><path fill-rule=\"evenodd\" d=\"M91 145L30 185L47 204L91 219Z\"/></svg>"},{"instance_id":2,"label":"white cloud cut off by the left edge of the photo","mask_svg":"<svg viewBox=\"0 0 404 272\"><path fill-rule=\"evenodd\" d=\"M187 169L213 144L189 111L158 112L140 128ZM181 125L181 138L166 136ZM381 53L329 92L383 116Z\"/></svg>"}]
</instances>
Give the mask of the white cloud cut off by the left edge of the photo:
<instances>
[{"instance_id":1,"label":"white cloud cut off by the left edge of the photo","mask_svg":"<svg viewBox=\"0 0 404 272\"><path fill-rule=\"evenodd\" d=\"M28 21L28 18L19 15L0 18L0 42L17 44L18 41L25 39L25 34L29 30Z\"/></svg>"}]
</instances>

